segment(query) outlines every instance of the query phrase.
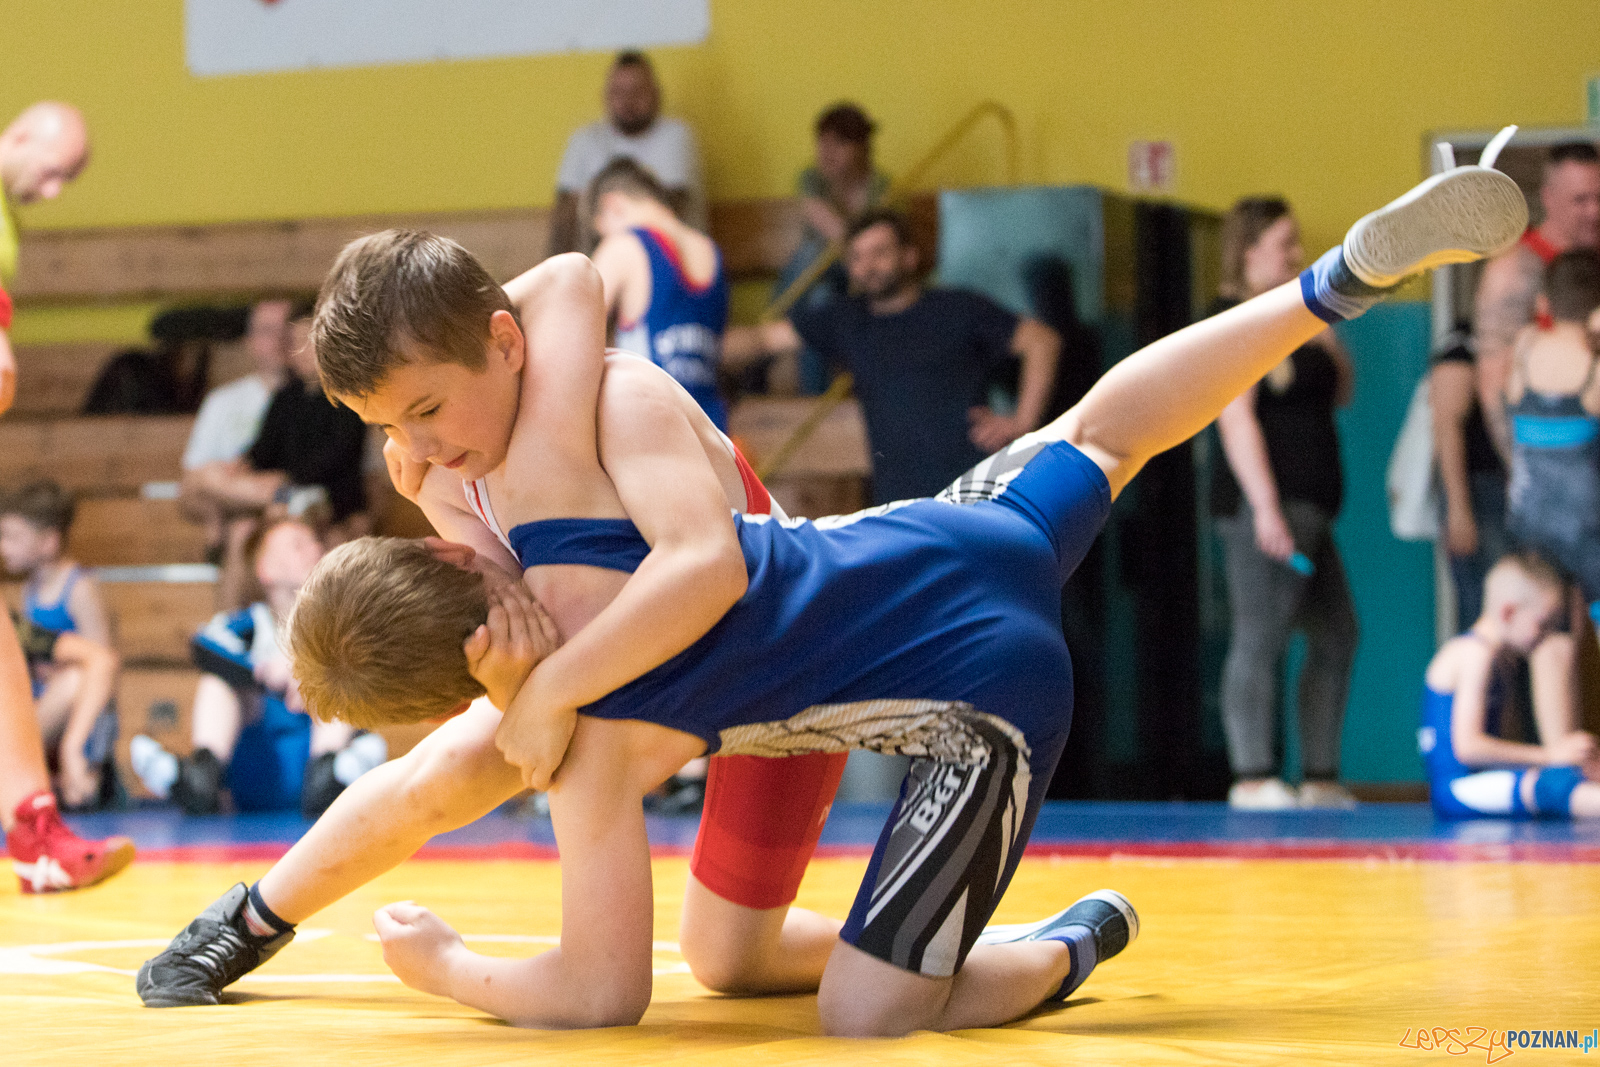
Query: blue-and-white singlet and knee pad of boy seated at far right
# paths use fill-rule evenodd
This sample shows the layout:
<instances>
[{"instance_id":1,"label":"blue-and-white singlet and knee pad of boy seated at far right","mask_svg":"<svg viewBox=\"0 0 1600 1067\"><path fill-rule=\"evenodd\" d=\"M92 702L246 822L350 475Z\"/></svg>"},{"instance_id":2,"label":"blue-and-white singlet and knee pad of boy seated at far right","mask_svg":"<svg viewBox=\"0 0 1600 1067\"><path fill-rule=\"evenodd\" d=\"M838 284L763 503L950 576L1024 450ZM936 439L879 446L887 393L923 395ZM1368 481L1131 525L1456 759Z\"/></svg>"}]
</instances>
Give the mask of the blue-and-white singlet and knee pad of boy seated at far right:
<instances>
[{"instance_id":1,"label":"blue-and-white singlet and knee pad of boy seated at far right","mask_svg":"<svg viewBox=\"0 0 1600 1067\"><path fill-rule=\"evenodd\" d=\"M1504 697L1504 681L1499 672L1493 672L1483 712L1483 733L1490 736L1499 734ZM1422 726L1416 731L1416 741L1422 752L1422 765L1427 768L1427 792L1434 801L1434 814L1440 819L1571 817L1571 797L1584 781L1582 769L1539 768L1539 781L1533 785L1534 809L1530 811L1522 798L1522 779L1534 768L1467 766L1456 758L1451 731L1454 705L1454 693L1438 693L1430 685L1422 685Z\"/></svg>"}]
</instances>

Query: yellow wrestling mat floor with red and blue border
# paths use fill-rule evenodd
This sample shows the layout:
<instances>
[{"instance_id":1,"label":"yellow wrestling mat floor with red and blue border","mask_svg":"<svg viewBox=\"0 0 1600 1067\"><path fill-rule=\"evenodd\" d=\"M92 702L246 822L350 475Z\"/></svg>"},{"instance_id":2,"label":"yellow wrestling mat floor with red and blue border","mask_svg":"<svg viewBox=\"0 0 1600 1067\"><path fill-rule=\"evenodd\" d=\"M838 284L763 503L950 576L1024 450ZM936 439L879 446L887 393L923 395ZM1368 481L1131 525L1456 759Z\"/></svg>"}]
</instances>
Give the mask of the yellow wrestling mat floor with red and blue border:
<instances>
[{"instance_id":1,"label":"yellow wrestling mat floor with red and blue border","mask_svg":"<svg viewBox=\"0 0 1600 1067\"><path fill-rule=\"evenodd\" d=\"M835 809L800 904L843 913L882 816ZM142 859L80 894L24 897L5 880L0 1064L1558 1064L1589 1059L1507 1056L1504 1032L1600 1027L1600 827L1440 827L1419 805L1051 805L997 921L1112 886L1138 905L1139 941L1064 1009L862 1043L816 1037L814 998L723 998L686 974L672 939L691 819L651 827L650 1013L634 1029L573 1033L515 1030L414 993L370 937L373 909L410 897L480 950L549 945L558 889L544 821L496 814L438 838L306 923L232 1003L171 1011L139 1006L134 968L230 883L259 877L302 824L147 811L77 825L133 833ZM1493 1043L1467 1048L1478 1029Z\"/></svg>"}]
</instances>

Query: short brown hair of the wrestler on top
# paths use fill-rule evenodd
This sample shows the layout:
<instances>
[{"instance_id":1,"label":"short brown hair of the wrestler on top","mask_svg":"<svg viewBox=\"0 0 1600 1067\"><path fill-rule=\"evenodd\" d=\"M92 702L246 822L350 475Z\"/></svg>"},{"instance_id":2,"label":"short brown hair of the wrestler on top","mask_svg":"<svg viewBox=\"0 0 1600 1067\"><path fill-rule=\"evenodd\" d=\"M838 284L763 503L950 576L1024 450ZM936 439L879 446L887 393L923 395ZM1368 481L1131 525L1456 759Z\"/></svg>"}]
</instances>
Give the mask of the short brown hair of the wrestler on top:
<instances>
[{"instance_id":1,"label":"short brown hair of the wrestler on top","mask_svg":"<svg viewBox=\"0 0 1600 1067\"><path fill-rule=\"evenodd\" d=\"M350 242L317 296L310 342L323 392L370 397L418 357L483 370L490 315L510 298L472 253L421 230Z\"/></svg>"}]
</instances>

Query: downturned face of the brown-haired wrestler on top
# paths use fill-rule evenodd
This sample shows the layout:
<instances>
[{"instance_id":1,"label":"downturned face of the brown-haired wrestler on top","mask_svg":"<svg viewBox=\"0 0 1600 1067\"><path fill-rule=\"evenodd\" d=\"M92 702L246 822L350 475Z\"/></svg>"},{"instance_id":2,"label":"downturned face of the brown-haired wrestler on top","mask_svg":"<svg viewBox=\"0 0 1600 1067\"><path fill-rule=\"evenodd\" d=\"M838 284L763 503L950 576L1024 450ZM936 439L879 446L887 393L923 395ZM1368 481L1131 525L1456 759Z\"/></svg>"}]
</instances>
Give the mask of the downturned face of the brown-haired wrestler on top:
<instances>
[{"instance_id":1,"label":"downturned face of the brown-haired wrestler on top","mask_svg":"<svg viewBox=\"0 0 1600 1067\"><path fill-rule=\"evenodd\" d=\"M389 371L371 395L339 402L381 427L411 461L482 478L506 462L522 368L522 330L501 310L490 318L483 370L416 357Z\"/></svg>"}]
</instances>

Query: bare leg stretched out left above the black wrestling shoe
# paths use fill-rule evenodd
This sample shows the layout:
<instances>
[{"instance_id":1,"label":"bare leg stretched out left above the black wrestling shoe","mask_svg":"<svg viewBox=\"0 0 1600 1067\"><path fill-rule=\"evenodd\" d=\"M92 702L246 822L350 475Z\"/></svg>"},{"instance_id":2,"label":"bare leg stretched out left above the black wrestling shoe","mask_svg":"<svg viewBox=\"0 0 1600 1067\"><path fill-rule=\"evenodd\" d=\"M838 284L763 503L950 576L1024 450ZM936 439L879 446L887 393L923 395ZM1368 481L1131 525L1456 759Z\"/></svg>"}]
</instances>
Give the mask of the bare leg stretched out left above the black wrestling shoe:
<instances>
[{"instance_id":1,"label":"bare leg stretched out left above the black wrestling shoe","mask_svg":"<svg viewBox=\"0 0 1600 1067\"><path fill-rule=\"evenodd\" d=\"M301 923L410 859L427 840L522 792L494 747L501 715L475 701L398 760L355 779L259 883L274 915Z\"/></svg>"}]
</instances>

